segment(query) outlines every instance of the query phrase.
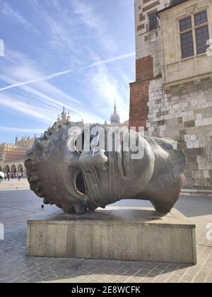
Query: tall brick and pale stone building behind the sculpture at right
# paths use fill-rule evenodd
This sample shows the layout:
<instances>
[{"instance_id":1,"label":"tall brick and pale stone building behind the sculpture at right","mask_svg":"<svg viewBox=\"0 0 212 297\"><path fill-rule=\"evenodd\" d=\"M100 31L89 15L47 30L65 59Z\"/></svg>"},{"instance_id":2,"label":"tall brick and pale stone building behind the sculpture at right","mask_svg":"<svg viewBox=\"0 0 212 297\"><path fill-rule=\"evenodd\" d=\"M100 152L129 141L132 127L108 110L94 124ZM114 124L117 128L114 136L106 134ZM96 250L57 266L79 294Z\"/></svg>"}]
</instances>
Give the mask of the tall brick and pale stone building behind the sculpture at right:
<instances>
[{"instance_id":1,"label":"tall brick and pale stone building behind the sculpture at right","mask_svg":"<svg viewBox=\"0 0 212 297\"><path fill-rule=\"evenodd\" d=\"M135 16L129 125L176 139L184 191L212 192L212 1L135 0Z\"/></svg>"}]
</instances>

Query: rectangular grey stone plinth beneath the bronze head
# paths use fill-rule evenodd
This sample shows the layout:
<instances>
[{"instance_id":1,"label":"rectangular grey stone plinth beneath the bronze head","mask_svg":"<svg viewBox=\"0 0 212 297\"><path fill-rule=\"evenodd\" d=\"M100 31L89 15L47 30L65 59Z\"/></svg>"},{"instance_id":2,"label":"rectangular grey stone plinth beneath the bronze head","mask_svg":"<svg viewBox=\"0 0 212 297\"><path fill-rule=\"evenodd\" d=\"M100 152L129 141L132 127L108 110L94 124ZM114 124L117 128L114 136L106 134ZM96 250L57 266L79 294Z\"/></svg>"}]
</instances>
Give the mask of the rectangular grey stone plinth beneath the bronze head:
<instances>
[{"instance_id":1,"label":"rectangular grey stone plinth beneath the bronze head","mask_svg":"<svg viewBox=\"0 0 212 297\"><path fill-rule=\"evenodd\" d=\"M196 264L196 226L179 211L107 207L28 221L28 256Z\"/></svg>"}]
</instances>

